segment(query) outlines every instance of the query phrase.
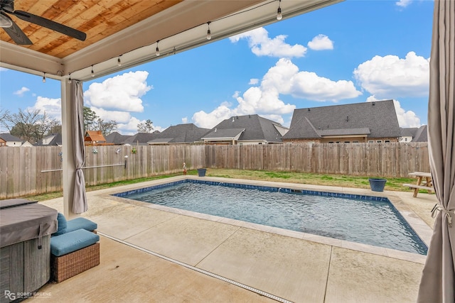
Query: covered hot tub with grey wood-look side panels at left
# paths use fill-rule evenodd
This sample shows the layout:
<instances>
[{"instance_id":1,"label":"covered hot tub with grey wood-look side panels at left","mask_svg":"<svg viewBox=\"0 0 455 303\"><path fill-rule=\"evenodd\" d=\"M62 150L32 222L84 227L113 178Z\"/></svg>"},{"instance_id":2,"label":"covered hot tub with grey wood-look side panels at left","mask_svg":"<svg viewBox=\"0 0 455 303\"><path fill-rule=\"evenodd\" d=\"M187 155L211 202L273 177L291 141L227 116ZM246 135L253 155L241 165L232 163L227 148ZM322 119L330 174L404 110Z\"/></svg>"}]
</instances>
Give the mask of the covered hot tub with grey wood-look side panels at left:
<instances>
[{"instance_id":1,"label":"covered hot tub with grey wood-look side panels at left","mask_svg":"<svg viewBox=\"0 0 455 303\"><path fill-rule=\"evenodd\" d=\"M55 231L57 210L26 199L0 200L0 302L27 297L48 282Z\"/></svg>"}]
</instances>

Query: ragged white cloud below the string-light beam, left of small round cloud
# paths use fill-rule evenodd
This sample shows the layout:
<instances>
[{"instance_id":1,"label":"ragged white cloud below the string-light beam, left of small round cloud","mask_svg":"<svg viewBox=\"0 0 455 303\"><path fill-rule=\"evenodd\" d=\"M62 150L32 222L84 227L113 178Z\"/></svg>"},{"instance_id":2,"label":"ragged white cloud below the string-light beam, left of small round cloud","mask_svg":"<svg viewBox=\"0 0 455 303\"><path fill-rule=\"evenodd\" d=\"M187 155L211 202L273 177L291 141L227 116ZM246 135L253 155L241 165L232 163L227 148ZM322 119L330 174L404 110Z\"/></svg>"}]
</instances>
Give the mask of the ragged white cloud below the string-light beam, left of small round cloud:
<instances>
[{"instance_id":1,"label":"ragged white cloud below the string-light beam, left of small round cloud","mask_svg":"<svg viewBox=\"0 0 455 303\"><path fill-rule=\"evenodd\" d=\"M252 53L257 56L269 57L304 57L306 48L304 45L289 45L284 42L287 35L277 35L275 38L269 38L269 32L265 28L256 28L246 33L240 33L230 37L232 43L240 39L247 39Z\"/></svg>"}]
</instances>

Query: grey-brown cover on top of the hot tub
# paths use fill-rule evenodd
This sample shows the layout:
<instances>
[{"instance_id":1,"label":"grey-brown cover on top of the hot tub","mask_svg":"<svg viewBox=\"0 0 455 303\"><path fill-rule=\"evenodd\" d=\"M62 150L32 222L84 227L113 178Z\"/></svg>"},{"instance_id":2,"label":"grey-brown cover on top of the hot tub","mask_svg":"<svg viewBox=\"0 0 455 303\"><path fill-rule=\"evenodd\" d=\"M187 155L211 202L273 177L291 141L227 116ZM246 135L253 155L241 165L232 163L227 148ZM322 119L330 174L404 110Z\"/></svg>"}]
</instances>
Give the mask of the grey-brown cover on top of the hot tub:
<instances>
[{"instance_id":1,"label":"grey-brown cover on top of the hot tub","mask_svg":"<svg viewBox=\"0 0 455 303\"><path fill-rule=\"evenodd\" d=\"M26 199L0 201L0 247L57 231L57 210Z\"/></svg>"}]
</instances>

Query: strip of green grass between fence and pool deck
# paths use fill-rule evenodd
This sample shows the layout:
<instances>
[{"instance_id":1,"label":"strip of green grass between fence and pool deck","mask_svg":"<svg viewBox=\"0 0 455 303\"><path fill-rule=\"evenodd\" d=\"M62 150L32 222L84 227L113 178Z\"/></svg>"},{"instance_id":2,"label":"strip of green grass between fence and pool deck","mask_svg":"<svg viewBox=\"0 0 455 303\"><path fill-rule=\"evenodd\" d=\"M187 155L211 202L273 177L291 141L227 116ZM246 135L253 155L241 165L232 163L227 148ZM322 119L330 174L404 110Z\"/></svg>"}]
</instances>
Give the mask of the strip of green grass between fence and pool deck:
<instances>
[{"instance_id":1,"label":"strip of green grass between fence and pool deck","mask_svg":"<svg viewBox=\"0 0 455 303\"><path fill-rule=\"evenodd\" d=\"M197 170L188 170L188 175L198 175ZM98 189L106 189L110 187L117 187L120 185L134 184L139 182L151 181L164 179L166 177L174 177L182 175L182 173L158 175L153 177L146 177L134 180L125 180L119 182L112 182L108 184L101 184L87 187L87 192ZM268 170L231 170L231 169L218 169L208 168L205 174L208 177L225 177L235 179L247 179L247 180L264 180L274 182L288 182L288 183L300 183L300 184L314 184L314 185L328 185L338 187L353 187L353 188L370 188L370 182L368 177L361 176L347 176L347 175L320 175L311 174L306 172L272 172ZM378 177L378 176L372 176ZM386 178L387 183L385 184L385 190L393 190L400 192L412 192L412 189L403 187L403 183L414 183L416 182L413 178ZM426 192L426 191L422 191ZM38 201L44 201L48 199L62 197L62 192L53 192L49 194L40 194L37 196L31 196Z\"/></svg>"}]
</instances>

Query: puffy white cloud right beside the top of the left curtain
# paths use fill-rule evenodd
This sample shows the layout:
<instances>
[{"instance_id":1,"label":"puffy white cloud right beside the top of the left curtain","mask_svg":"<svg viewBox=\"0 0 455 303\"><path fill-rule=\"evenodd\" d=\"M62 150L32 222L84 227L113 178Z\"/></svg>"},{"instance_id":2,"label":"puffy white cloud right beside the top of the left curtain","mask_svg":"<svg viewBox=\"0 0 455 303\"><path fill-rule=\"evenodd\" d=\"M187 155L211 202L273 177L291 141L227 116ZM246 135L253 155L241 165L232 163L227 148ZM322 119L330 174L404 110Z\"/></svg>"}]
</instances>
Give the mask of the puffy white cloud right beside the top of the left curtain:
<instances>
[{"instance_id":1,"label":"puffy white cloud right beside the top of the left curtain","mask_svg":"<svg viewBox=\"0 0 455 303\"><path fill-rule=\"evenodd\" d=\"M142 97L152 87L147 85L149 72L128 72L105 79L102 83L92 83L84 92L87 106L120 111L144 111Z\"/></svg>"}]
</instances>

